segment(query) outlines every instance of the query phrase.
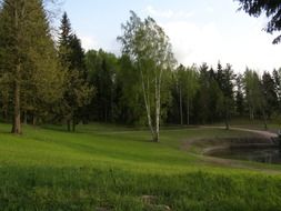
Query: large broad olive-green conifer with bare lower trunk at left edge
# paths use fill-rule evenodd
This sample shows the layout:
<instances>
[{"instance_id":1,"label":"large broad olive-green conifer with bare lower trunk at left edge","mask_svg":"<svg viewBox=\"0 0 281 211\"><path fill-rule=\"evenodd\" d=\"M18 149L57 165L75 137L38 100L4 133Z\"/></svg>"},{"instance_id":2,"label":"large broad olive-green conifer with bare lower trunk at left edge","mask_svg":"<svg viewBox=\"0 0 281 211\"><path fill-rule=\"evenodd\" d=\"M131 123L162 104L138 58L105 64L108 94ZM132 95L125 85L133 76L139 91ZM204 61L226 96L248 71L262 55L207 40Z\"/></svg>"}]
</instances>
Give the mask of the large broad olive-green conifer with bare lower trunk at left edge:
<instances>
[{"instance_id":1,"label":"large broad olive-green conifer with bare lower trunk at left edge","mask_svg":"<svg viewBox=\"0 0 281 211\"><path fill-rule=\"evenodd\" d=\"M63 74L57 71L57 52L41 0L4 0L0 24L2 74L12 92L12 132L21 133L22 105L34 111L38 100L43 104L60 98Z\"/></svg>"}]
</instances>

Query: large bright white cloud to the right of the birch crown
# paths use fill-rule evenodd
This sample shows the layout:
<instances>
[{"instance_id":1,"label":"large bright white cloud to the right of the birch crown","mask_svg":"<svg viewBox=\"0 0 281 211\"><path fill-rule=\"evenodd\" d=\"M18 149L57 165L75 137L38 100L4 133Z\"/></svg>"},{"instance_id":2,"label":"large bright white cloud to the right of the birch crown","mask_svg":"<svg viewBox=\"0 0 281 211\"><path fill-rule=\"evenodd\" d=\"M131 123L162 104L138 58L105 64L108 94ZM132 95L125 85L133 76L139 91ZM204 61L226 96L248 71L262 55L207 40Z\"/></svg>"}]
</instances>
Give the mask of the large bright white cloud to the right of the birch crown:
<instances>
[{"instance_id":1,"label":"large bright white cloud to the right of the birch crown","mask_svg":"<svg viewBox=\"0 0 281 211\"><path fill-rule=\"evenodd\" d=\"M249 19L244 16L243 19L233 12L228 20L220 20L214 14L217 9L208 3L202 11L209 13L205 17L212 13L214 18L208 21L200 12L145 8L145 13L157 18L170 37L179 63L207 62L217 67L220 60L223 64L232 64L235 71L244 71L245 67L258 71L281 67L280 46L272 46L273 38L261 30L267 22L264 17ZM244 20L245 24L239 23Z\"/></svg>"}]
</instances>

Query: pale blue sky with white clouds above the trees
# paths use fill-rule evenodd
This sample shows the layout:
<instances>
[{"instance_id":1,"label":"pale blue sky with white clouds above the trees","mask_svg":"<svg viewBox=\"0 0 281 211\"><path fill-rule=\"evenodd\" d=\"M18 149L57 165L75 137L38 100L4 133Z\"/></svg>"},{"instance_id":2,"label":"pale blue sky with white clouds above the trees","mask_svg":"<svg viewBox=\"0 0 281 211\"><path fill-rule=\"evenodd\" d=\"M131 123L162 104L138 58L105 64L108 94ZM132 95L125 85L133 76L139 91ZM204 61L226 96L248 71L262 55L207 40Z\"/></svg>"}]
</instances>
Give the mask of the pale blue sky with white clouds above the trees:
<instances>
[{"instance_id":1,"label":"pale blue sky with white clouds above the trees","mask_svg":"<svg viewBox=\"0 0 281 211\"><path fill-rule=\"evenodd\" d=\"M277 34L262 29L267 18L249 17L238 11L233 0L63 0L73 31L82 47L120 53L117 37L121 23L133 10L140 18L148 16L164 29L175 59L184 66L207 62L217 67L232 64L234 71L247 67L259 72L281 67L281 44L272 44Z\"/></svg>"}]
</instances>

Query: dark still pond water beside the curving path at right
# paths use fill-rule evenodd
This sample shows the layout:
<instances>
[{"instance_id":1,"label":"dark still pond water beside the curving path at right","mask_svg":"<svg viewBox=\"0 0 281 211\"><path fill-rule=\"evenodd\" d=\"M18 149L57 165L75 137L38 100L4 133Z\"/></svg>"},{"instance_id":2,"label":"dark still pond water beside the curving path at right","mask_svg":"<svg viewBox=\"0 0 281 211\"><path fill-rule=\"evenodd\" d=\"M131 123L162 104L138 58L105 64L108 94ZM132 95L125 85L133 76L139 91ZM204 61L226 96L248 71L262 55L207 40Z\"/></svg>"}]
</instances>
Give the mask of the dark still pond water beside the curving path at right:
<instances>
[{"instance_id":1,"label":"dark still pond water beside the curving path at right","mask_svg":"<svg viewBox=\"0 0 281 211\"><path fill-rule=\"evenodd\" d=\"M212 152L209 155L224 159L237 159L237 160L248 160L248 161L281 164L280 148L267 148L267 149L231 148Z\"/></svg>"}]
</instances>

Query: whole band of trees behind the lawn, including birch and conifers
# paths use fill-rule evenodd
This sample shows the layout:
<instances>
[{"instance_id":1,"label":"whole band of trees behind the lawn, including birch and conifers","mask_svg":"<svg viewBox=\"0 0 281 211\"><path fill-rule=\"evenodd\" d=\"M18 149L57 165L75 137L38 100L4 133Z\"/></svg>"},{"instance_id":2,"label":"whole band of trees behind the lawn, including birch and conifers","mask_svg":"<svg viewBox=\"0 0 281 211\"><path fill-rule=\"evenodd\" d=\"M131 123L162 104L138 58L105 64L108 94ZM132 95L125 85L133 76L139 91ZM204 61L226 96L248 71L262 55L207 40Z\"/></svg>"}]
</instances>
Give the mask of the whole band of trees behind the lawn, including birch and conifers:
<instances>
[{"instance_id":1,"label":"whole band of trees behind the lawn, including birch and conifers","mask_svg":"<svg viewBox=\"0 0 281 211\"><path fill-rule=\"evenodd\" d=\"M231 64L177 64L169 38L152 18L131 12L122 24L121 56L84 51L64 12L54 38L41 0L0 4L0 111L2 121L148 125L159 141L162 124L267 121L281 111L281 69L272 73ZM54 41L56 40L56 41Z\"/></svg>"}]
</instances>

